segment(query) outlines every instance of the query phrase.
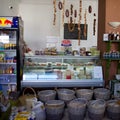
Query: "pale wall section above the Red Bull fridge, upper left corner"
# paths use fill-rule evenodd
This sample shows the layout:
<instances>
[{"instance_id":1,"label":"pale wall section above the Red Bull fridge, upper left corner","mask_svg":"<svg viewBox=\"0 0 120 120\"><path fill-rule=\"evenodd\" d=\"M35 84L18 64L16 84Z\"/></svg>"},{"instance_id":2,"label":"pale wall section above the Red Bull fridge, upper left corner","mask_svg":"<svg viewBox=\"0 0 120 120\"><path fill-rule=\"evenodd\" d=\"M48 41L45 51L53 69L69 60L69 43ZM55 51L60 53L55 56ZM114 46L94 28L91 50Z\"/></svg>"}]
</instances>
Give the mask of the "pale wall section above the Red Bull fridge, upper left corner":
<instances>
[{"instance_id":1,"label":"pale wall section above the Red Bull fridge, upper left corner","mask_svg":"<svg viewBox=\"0 0 120 120\"><path fill-rule=\"evenodd\" d=\"M0 16L17 16L19 2L20 0L0 0Z\"/></svg>"}]
</instances>

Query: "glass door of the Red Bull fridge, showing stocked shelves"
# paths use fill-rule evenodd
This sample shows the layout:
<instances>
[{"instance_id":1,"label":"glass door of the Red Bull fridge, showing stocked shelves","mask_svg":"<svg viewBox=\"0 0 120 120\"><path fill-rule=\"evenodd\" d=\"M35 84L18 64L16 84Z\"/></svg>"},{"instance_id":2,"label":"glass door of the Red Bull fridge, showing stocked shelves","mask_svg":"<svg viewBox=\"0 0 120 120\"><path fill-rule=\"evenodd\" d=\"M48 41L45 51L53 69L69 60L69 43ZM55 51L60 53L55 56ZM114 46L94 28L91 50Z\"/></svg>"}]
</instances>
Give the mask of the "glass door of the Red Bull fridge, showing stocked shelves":
<instances>
[{"instance_id":1,"label":"glass door of the Red Bull fridge, showing stocked shelves","mask_svg":"<svg viewBox=\"0 0 120 120\"><path fill-rule=\"evenodd\" d=\"M0 29L0 88L7 95L17 85L17 30Z\"/></svg>"}]
</instances>

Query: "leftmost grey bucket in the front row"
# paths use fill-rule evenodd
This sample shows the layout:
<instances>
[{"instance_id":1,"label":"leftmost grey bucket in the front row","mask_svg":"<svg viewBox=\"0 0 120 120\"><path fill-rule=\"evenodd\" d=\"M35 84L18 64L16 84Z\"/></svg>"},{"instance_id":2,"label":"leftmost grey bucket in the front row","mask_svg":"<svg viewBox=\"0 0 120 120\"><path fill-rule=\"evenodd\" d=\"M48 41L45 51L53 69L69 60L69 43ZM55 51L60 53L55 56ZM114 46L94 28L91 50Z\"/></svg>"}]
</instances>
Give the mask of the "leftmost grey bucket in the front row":
<instances>
[{"instance_id":1,"label":"leftmost grey bucket in the front row","mask_svg":"<svg viewBox=\"0 0 120 120\"><path fill-rule=\"evenodd\" d=\"M49 100L45 104L47 120L61 120L64 112L64 101Z\"/></svg>"}]
</instances>

